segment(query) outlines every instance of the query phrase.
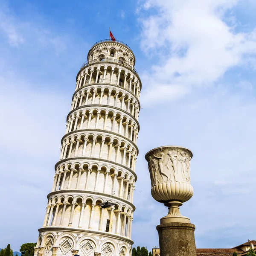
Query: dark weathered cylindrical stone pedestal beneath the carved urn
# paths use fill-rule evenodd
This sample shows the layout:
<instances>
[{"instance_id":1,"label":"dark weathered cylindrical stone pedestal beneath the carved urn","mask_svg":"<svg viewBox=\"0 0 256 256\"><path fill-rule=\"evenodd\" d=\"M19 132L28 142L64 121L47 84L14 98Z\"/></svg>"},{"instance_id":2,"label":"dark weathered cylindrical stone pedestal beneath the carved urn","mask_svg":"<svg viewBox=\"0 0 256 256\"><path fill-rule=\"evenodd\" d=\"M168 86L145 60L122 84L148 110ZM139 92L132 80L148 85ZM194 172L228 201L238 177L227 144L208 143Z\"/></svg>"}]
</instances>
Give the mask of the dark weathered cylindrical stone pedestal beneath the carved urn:
<instances>
[{"instance_id":1,"label":"dark weathered cylindrical stone pedestal beneath the carved urn","mask_svg":"<svg viewBox=\"0 0 256 256\"><path fill-rule=\"evenodd\" d=\"M161 256L196 256L195 225L164 223L157 226Z\"/></svg>"}]
</instances>

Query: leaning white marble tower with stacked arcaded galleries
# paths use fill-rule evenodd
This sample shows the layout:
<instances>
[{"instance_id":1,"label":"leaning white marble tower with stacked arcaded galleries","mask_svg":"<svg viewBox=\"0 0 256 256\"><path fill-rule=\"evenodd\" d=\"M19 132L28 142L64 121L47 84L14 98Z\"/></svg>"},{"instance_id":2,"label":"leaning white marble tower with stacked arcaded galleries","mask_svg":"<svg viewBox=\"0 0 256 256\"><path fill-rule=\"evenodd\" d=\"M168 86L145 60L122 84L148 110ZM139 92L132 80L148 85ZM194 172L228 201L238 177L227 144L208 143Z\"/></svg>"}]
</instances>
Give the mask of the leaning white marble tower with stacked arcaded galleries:
<instances>
[{"instance_id":1,"label":"leaning white marble tower with stacked arcaded galleries","mask_svg":"<svg viewBox=\"0 0 256 256\"><path fill-rule=\"evenodd\" d=\"M129 256L141 81L119 41L91 47L55 165L35 256ZM112 203L104 208L100 204Z\"/></svg>"}]
</instances>

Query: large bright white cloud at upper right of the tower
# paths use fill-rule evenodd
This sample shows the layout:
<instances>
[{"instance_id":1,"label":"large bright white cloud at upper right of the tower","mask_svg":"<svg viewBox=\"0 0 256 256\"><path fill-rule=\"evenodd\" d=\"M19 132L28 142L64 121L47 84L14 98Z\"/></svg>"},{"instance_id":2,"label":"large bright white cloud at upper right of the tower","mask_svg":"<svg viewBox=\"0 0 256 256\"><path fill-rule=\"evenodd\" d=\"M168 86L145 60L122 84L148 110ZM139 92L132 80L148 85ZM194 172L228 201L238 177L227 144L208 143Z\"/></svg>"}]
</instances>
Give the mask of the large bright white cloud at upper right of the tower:
<instances>
[{"instance_id":1,"label":"large bright white cloud at upper right of the tower","mask_svg":"<svg viewBox=\"0 0 256 256\"><path fill-rule=\"evenodd\" d=\"M172 99L179 98L193 87L211 86L230 68L250 61L248 55L256 54L256 30L235 31L232 9L237 3L238 0L144 3L142 10L157 13L143 16L140 11L141 48L155 62L142 76L144 104L169 99L170 95ZM159 90L166 93L158 93Z\"/></svg>"}]
</instances>

